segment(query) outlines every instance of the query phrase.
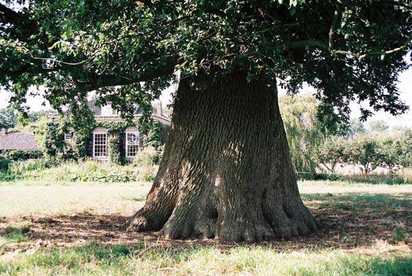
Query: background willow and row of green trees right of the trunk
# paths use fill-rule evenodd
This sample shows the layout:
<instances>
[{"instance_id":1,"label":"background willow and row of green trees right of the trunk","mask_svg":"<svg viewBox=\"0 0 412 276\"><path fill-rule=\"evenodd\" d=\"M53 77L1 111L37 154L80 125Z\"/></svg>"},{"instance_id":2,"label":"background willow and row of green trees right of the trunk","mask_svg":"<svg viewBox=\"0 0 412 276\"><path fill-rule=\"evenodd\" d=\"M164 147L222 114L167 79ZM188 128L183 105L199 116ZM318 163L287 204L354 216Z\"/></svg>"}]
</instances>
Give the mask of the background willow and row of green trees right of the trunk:
<instances>
[{"instance_id":1,"label":"background willow and row of green trees right of the trunk","mask_svg":"<svg viewBox=\"0 0 412 276\"><path fill-rule=\"evenodd\" d=\"M365 127L354 118L348 126L328 126L312 96L280 97L279 105L297 172L334 173L339 163L358 165L363 174L377 167L394 172L412 165L411 128L389 131L383 120Z\"/></svg>"}]
</instances>

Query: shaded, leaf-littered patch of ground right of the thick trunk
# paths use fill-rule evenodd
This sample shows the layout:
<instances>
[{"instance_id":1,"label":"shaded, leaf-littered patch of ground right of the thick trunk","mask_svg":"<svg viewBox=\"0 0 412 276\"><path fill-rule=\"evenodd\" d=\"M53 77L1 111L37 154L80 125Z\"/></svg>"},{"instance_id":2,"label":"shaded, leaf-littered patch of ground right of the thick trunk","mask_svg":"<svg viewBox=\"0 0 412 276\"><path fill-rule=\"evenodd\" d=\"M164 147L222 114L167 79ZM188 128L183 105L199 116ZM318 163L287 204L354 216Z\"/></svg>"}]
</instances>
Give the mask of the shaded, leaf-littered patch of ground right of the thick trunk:
<instances>
[{"instance_id":1,"label":"shaded, leaf-littered patch of ground right of the thick trunk","mask_svg":"<svg viewBox=\"0 0 412 276\"><path fill-rule=\"evenodd\" d=\"M302 199L321 221L325 237L340 239L340 246L412 242L412 194L302 194Z\"/></svg>"}]
</instances>

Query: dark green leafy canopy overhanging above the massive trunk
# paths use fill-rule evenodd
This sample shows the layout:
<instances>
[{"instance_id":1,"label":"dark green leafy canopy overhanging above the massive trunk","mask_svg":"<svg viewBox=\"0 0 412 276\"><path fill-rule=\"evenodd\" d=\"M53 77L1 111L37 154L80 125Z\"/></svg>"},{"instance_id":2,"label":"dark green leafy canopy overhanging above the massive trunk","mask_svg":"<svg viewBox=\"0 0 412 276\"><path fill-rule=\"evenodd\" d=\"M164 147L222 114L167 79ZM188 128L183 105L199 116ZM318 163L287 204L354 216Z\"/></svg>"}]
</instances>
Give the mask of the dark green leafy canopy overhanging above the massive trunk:
<instances>
[{"instance_id":1,"label":"dark green leafy canopy overhanging above the massive trunk","mask_svg":"<svg viewBox=\"0 0 412 276\"><path fill-rule=\"evenodd\" d=\"M412 49L409 0L3 1L0 84L23 108L44 85L55 108L89 114L97 90L122 115L150 101L174 78L244 70L296 93L307 82L320 113L347 121L353 100L407 111L396 87ZM371 115L362 109L362 117Z\"/></svg>"}]
</instances>

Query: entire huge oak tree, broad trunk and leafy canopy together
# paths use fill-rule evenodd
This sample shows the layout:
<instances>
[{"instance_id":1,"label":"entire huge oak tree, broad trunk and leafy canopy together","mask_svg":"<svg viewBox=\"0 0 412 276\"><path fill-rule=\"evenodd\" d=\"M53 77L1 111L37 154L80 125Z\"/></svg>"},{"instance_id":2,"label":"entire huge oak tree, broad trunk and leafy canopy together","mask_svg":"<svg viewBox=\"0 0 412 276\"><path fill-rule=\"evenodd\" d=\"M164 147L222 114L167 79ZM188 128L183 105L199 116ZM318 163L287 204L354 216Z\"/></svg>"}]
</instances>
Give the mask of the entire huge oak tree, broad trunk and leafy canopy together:
<instances>
[{"instance_id":1,"label":"entire huge oak tree, broad trunk and leafy canopy together","mask_svg":"<svg viewBox=\"0 0 412 276\"><path fill-rule=\"evenodd\" d=\"M180 72L170 139L130 231L249 242L316 231L277 85L310 84L329 121L346 122L353 100L407 111L396 82L412 49L408 0L21 2L0 5L0 82L18 108L44 84L79 118L93 90L125 117L135 102L148 114Z\"/></svg>"}]
</instances>

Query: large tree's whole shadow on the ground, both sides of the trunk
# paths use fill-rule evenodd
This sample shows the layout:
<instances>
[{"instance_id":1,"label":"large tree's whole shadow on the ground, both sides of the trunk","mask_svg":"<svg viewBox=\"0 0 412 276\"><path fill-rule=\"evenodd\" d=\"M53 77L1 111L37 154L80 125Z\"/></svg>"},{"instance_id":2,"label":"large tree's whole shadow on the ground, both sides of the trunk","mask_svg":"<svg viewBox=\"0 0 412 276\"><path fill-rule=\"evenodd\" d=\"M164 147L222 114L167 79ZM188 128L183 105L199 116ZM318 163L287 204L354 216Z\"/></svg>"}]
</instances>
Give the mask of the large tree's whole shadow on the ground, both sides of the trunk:
<instances>
[{"instance_id":1,"label":"large tree's whole shadow on the ground, both sides of the trunk","mask_svg":"<svg viewBox=\"0 0 412 276\"><path fill-rule=\"evenodd\" d=\"M302 198L323 225L319 232L262 245L277 250L354 249L370 246L376 240L412 242L412 194L302 194ZM216 240L159 240L156 232L126 233L124 223L127 218L119 214L89 212L50 218L26 217L32 230L21 241L35 244L41 240L49 246L78 246L90 241L128 245L135 244L136 239L164 246L187 246L193 242L216 244ZM3 225L8 223L5 221Z\"/></svg>"}]
</instances>

